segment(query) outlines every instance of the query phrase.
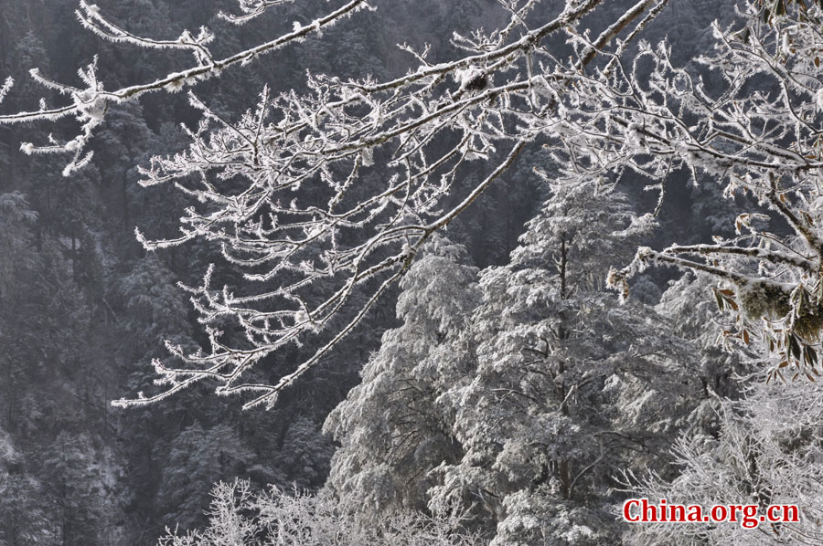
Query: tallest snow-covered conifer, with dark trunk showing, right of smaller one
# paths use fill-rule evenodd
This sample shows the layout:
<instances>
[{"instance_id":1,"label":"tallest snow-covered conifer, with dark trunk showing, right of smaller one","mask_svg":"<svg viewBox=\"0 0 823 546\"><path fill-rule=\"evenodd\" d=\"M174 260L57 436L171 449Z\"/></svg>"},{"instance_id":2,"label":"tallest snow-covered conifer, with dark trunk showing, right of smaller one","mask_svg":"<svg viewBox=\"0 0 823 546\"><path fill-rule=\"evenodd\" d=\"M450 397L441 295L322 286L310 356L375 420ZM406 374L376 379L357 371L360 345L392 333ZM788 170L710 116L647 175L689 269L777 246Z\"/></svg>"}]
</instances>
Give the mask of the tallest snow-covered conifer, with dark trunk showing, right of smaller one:
<instances>
[{"instance_id":1,"label":"tallest snow-covered conifer, with dark trunk showing, right of smaller one","mask_svg":"<svg viewBox=\"0 0 823 546\"><path fill-rule=\"evenodd\" d=\"M438 399L465 454L431 498L474 503L493 544L614 543L615 468L662 468L699 391L668 321L604 287L653 222L610 184L552 189L511 263L482 272L476 368Z\"/></svg>"}]
</instances>

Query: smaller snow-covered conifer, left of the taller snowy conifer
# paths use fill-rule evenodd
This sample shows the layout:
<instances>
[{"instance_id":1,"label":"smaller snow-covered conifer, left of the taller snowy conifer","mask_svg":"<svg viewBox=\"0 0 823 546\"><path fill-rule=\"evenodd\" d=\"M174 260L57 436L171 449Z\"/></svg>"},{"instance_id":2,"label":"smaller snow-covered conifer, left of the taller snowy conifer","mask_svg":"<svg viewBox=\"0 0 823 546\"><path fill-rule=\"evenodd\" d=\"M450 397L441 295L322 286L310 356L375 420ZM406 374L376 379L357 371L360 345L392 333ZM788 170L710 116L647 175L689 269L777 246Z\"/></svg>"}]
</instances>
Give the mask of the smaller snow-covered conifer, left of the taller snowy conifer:
<instances>
[{"instance_id":1,"label":"smaller snow-covered conifer, left of the taller snowy conifer","mask_svg":"<svg viewBox=\"0 0 823 546\"><path fill-rule=\"evenodd\" d=\"M362 383L326 420L341 444L326 487L360 503L367 520L425 509L429 470L463 456L453 412L437 398L465 367L454 343L477 303L477 270L466 260L463 247L430 239L401 280L402 325L383 334Z\"/></svg>"}]
</instances>

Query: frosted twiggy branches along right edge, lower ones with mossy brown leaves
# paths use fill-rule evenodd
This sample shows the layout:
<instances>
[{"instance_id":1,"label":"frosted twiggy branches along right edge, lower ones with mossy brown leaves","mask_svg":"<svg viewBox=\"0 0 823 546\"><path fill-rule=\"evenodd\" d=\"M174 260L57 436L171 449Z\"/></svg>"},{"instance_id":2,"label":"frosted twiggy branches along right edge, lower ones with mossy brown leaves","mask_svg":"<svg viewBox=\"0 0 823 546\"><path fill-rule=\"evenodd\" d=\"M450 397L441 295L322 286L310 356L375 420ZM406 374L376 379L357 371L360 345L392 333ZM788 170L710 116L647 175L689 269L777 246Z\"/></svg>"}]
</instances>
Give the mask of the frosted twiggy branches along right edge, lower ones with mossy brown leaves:
<instances>
[{"instance_id":1,"label":"frosted twiggy branches along right edge, lower ones with mossy brown leaves","mask_svg":"<svg viewBox=\"0 0 823 546\"><path fill-rule=\"evenodd\" d=\"M739 26L714 26L716 48L699 60L721 76L721 92L674 67L664 46L642 45L629 66L615 56L613 72L581 75L574 115L555 121L564 133L552 153L571 181L630 169L662 189L669 173L687 169L695 184L746 195L752 205L734 220L736 237L641 248L609 284L625 294L628 279L655 264L708 273L718 306L732 315L724 341L748 345L749 332L759 332L772 377L792 369L814 381L823 337L823 12L791 5L769 18L768 9L750 2ZM753 79L756 89L747 85ZM754 227L754 219L775 227Z\"/></svg>"}]
</instances>

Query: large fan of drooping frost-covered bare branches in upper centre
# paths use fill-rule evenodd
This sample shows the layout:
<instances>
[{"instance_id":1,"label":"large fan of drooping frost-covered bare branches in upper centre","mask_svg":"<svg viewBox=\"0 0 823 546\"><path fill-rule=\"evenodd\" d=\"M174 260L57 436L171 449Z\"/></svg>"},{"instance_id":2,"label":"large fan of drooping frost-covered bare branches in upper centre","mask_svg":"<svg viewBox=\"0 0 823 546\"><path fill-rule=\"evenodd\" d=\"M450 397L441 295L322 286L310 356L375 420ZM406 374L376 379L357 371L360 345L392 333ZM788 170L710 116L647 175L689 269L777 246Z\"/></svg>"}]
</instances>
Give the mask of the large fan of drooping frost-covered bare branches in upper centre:
<instances>
[{"instance_id":1,"label":"large fan of drooping frost-covered bare branches in upper centre","mask_svg":"<svg viewBox=\"0 0 823 546\"><path fill-rule=\"evenodd\" d=\"M483 45L465 58L424 65L399 79L309 75L304 95L289 91L272 98L264 89L258 106L236 123L192 94L203 121L190 135L189 150L155 157L142 171L143 184L176 184L208 206L187 209L177 236L138 236L150 250L217 242L227 262L247 271L245 293L212 287L210 275L202 286L188 288L211 350L173 351L187 366L155 364L166 391L118 404L150 404L204 379L216 381L219 394L251 394L247 407L274 404L358 325L428 236L461 214L540 137L543 118L567 85L561 74L581 68L559 64L540 40L598 3L567 9L513 41L495 34L493 49L487 47L491 38L479 39ZM527 55L542 59L548 76L524 80ZM487 74L487 85L465 84L460 76L467 69ZM529 88L538 80L556 90L535 100ZM494 167L457 205L444 209L467 163L478 160ZM236 192L218 189L219 181L238 177L244 184ZM322 298L318 286L326 290ZM245 332L246 347L220 341L218 324L227 317ZM273 352L309 339L319 349L278 382L247 379Z\"/></svg>"}]
</instances>

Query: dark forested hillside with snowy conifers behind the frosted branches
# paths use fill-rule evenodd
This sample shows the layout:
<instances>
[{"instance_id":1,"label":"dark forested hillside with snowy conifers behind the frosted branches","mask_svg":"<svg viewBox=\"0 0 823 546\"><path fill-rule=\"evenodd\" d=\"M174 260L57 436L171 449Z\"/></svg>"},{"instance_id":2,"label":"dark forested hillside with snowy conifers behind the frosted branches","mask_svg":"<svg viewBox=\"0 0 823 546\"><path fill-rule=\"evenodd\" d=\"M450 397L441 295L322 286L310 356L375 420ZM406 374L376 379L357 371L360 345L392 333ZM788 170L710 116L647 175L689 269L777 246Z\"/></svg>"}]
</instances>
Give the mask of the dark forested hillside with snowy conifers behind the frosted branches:
<instances>
[{"instance_id":1,"label":"dark forested hillside with snowy conifers behind the frosted branches","mask_svg":"<svg viewBox=\"0 0 823 546\"><path fill-rule=\"evenodd\" d=\"M236 29L213 18L226 7L216 0L99 4L138 34L176 37L208 25L233 37L224 42L233 49L326 8L319 0L286 5ZM209 106L230 117L250 108L264 84L302 89L307 69L397 76L411 59L395 44L429 42L435 59L449 58L453 30L494 27L504 17L492 0L374 4L377 11L322 39L202 84ZM675 60L687 64L731 5L672 2L646 39L668 37ZM142 51L102 46L81 31L74 8L65 0L4 0L0 74L18 82L5 110L33 106L32 67L72 81L76 67L99 55L102 72L119 86L173 69L174 56L158 66ZM606 6L597 16L607 20L619 9ZM473 506L485 536L505 512L550 520L541 525L556 529L558 541L615 543L625 530L609 511L625 498L616 472L671 478L670 446L679 435L718 437L721 417L712 408L718 396L739 396L733 376L741 364L706 328L717 312L710 285L650 270L620 307L604 278L638 245L728 233L739 212L734 202L676 173L656 229L609 238L654 208L656 195L631 176L596 199L552 191L532 169L550 168L539 147L434 240L401 287L272 410L241 413L240 401L201 388L149 409L112 409L113 399L151 390L149 362L165 355L164 340L204 342L176 282L196 285L215 249L146 254L134 238L135 226L150 236L173 233L187 205L167 188L138 187L134 166L182 149L176 122L197 119L184 97L127 105L95 137L93 164L69 178L60 175L59 158L33 161L18 151L19 142L42 140L48 129L0 126L0 544L153 543L167 526L205 525L209 490L236 477L255 488L311 490L328 480L339 495L361 499L372 517L392 507L425 510L433 495L459 497ZM473 164L466 184L484 175ZM568 268L558 289L553 260L561 245ZM557 358L602 369L555 371L532 384L531 397L498 397L497 389L518 382L511 376L518 359L529 357L514 349L501 357L500 348L516 346L529 329L557 327L544 323L550 317L565 317L560 327L568 330L552 348ZM278 359L269 363L273 373L294 354ZM461 383L469 369L477 380ZM573 395L564 390L572 383ZM540 417L537 401L547 398L556 399L561 418L540 420L549 417ZM546 430L553 436L544 438ZM548 444L518 443L523 438ZM539 463L545 454L529 449L566 455ZM511 493L505 509L501 490ZM515 520L500 529L500 543L542 543ZM506 532L519 538L500 538Z\"/></svg>"}]
</instances>

